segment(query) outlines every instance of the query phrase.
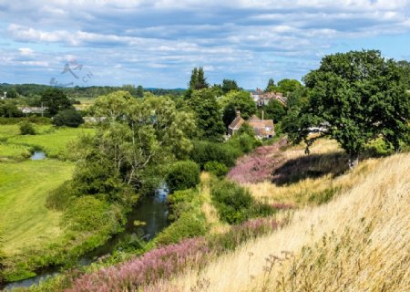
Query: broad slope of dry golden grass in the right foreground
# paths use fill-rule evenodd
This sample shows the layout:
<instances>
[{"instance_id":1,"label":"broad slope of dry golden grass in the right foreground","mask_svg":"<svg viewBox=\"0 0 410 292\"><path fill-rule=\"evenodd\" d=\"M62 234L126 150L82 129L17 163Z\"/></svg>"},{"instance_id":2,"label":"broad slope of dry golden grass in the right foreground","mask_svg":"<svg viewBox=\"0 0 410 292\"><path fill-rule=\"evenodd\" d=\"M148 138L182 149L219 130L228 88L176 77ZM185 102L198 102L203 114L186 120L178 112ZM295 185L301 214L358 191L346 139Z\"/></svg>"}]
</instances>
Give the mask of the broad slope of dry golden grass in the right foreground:
<instances>
[{"instance_id":1,"label":"broad slope of dry golden grass in the right foreground","mask_svg":"<svg viewBox=\"0 0 410 292\"><path fill-rule=\"evenodd\" d=\"M298 210L282 230L161 287L410 291L409 210L410 155L396 154L374 162L372 172L332 202Z\"/></svg>"}]
</instances>

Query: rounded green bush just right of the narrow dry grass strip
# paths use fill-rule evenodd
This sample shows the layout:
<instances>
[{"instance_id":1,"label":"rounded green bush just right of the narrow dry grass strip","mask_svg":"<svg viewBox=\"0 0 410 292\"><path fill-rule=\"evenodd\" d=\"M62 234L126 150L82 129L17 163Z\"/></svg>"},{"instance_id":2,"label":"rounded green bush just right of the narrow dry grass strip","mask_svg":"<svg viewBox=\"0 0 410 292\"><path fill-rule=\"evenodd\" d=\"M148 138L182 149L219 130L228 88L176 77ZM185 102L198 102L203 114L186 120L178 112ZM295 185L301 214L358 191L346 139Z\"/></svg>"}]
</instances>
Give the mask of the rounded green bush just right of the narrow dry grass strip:
<instances>
[{"instance_id":1,"label":"rounded green bush just right of the narrow dry grass strip","mask_svg":"<svg viewBox=\"0 0 410 292\"><path fill-rule=\"evenodd\" d=\"M251 193L237 183L225 180L216 182L210 195L221 220L229 224L239 224L249 218L253 203Z\"/></svg>"}]
</instances>

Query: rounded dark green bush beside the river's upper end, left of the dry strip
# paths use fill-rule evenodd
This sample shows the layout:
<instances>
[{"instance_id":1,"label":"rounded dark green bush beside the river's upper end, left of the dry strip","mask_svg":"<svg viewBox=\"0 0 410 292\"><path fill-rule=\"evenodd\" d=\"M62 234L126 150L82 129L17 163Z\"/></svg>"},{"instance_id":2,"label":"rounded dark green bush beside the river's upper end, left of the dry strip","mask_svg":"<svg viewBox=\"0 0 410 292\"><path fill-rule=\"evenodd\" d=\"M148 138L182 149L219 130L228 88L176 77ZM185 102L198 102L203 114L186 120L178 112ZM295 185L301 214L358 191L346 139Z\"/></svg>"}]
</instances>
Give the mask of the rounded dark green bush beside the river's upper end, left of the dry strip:
<instances>
[{"instance_id":1,"label":"rounded dark green bush beside the river's upper end, left of the dry strip","mask_svg":"<svg viewBox=\"0 0 410 292\"><path fill-rule=\"evenodd\" d=\"M170 193L195 187L200 183L200 168L195 162L176 162L166 177Z\"/></svg>"}]
</instances>

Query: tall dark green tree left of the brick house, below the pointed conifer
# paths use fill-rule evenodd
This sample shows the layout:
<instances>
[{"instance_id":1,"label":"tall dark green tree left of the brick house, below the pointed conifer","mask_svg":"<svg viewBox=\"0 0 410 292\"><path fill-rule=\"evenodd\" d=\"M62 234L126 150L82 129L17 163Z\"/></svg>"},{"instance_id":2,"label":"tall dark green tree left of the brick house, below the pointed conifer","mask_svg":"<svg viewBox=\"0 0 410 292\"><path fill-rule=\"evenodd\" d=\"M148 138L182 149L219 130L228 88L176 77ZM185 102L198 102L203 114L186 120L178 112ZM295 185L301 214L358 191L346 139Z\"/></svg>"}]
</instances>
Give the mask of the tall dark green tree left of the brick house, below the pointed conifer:
<instances>
[{"instance_id":1,"label":"tall dark green tree left of the brick house, below the pointed conifer","mask_svg":"<svg viewBox=\"0 0 410 292\"><path fill-rule=\"evenodd\" d=\"M193 91L188 104L195 114L199 136L210 141L220 141L225 128L220 116L220 105L213 90Z\"/></svg>"}]
</instances>

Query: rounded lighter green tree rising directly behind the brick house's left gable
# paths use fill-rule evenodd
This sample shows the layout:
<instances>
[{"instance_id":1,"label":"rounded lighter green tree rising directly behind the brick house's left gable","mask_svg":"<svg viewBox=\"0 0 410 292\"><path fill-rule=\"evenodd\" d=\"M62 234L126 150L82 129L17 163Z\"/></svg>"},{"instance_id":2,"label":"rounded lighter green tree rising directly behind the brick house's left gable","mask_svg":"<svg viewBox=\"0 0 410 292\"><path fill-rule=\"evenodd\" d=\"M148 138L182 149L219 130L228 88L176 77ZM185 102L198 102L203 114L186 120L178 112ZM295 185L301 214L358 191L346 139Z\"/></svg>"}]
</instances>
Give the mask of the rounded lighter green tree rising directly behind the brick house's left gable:
<instances>
[{"instance_id":1,"label":"rounded lighter green tree rising directly behind the brick house's left gable","mask_svg":"<svg viewBox=\"0 0 410 292\"><path fill-rule=\"evenodd\" d=\"M256 112L256 104L248 91L230 91L219 100L222 109L222 120L228 127L236 117L236 111L241 111L241 117L248 120Z\"/></svg>"}]
</instances>

